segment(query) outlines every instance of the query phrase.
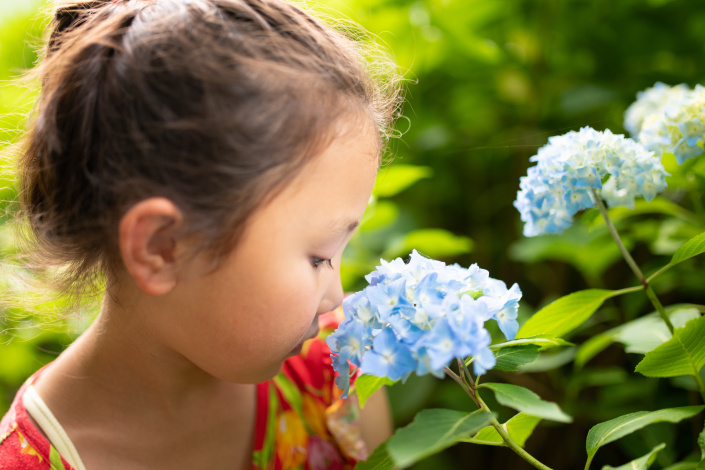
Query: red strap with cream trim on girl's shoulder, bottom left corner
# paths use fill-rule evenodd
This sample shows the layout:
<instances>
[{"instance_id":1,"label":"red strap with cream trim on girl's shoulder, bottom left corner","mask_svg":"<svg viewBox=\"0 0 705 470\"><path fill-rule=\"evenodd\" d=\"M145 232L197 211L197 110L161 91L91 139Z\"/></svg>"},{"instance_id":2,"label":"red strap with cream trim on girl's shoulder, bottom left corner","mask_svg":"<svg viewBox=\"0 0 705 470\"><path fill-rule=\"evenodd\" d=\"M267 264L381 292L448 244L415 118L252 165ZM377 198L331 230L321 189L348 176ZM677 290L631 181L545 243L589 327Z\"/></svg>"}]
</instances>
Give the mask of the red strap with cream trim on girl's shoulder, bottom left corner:
<instances>
[{"instance_id":1,"label":"red strap with cream trim on girl's shoulder, bottom left corner","mask_svg":"<svg viewBox=\"0 0 705 470\"><path fill-rule=\"evenodd\" d=\"M73 470L30 420L24 406L27 387L34 383L42 370L24 383L0 421L0 468Z\"/></svg>"}]
</instances>

